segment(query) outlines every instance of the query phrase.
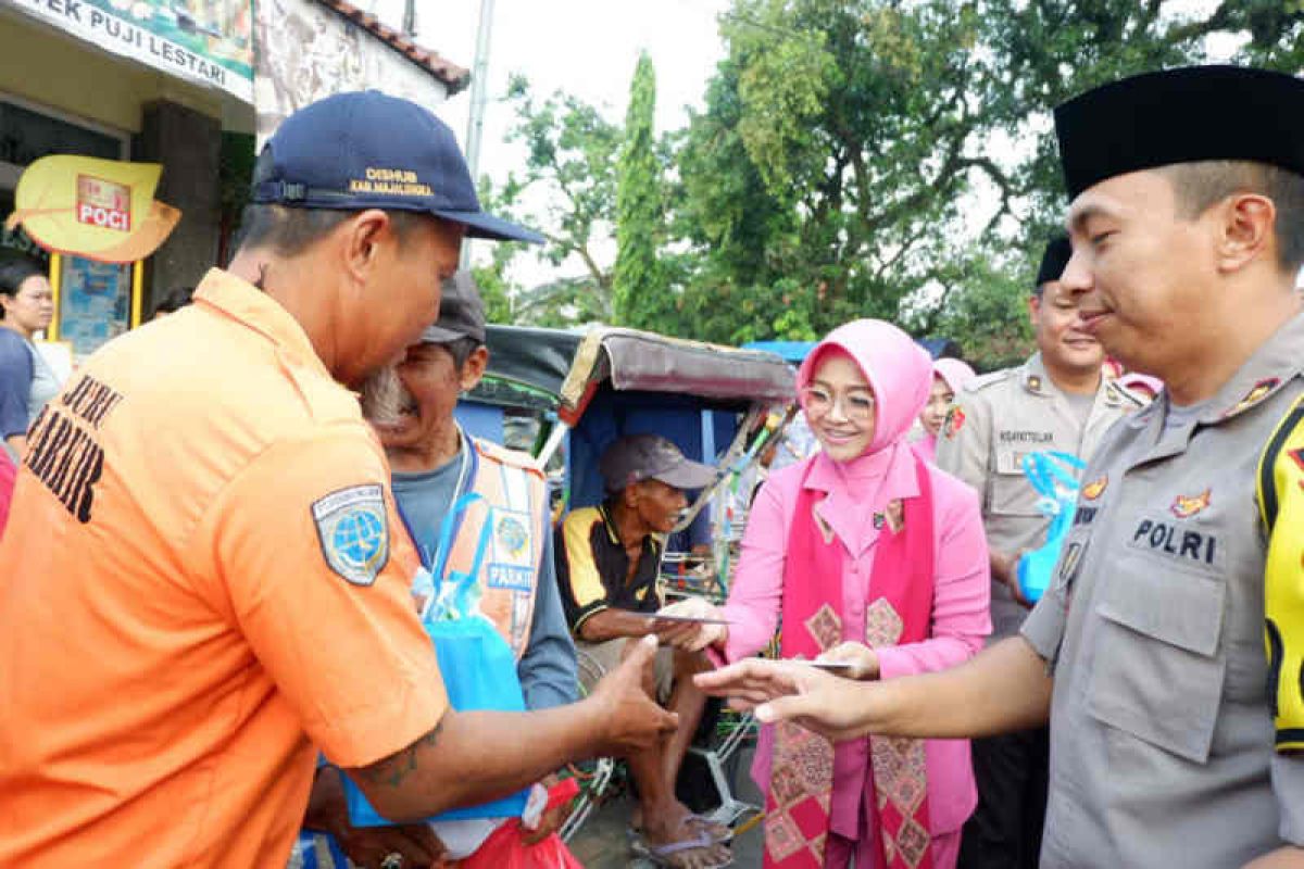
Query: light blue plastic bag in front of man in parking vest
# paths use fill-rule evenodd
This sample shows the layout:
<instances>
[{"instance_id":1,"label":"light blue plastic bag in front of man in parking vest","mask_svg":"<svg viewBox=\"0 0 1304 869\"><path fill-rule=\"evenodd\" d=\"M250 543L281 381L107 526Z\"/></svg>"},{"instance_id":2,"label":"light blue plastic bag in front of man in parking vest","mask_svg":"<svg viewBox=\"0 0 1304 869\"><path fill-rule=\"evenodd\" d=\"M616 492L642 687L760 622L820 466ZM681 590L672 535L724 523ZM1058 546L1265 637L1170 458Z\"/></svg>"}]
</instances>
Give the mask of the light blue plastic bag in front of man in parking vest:
<instances>
[{"instance_id":1,"label":"light blue plastic bag in front of man in parking vest","mask_svg":"<svg viewBox=\"0 0 1304 869\"><path fill-rule=\"evenodd\" d=\"M438 555L430 571L433 594L421 614L421 625L434 645L439 672L449 694L449 705L458 711L526 711L526 698L516 675L516 655L494 624L480 612L480 564L489 542L490 524L485 522L476 547L471 573L445 576L452 533L458 517L482 498L463 495L439 526ZM355 827L391 825L363 792L344 776L348 817ZM464 821L468 818L515 818L526 810L529 790L493 803L452 809L430 821Z\"/></svg>"}]
</instances>

